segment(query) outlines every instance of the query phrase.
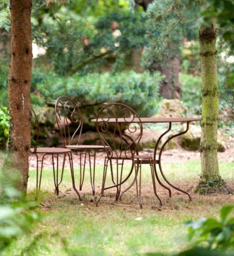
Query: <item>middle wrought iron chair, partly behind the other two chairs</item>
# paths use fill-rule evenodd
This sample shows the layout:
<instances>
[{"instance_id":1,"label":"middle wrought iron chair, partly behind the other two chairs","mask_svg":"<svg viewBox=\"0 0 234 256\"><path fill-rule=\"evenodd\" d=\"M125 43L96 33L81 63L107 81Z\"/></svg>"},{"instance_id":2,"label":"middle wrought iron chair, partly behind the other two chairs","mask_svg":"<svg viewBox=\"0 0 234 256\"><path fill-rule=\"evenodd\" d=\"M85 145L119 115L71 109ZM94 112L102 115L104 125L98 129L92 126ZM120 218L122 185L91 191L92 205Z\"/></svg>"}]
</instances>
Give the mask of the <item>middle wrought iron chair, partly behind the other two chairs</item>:
<instances>
[{"instance_id":1,"label":"middle wrought iron chair, partly behind the other two chairs","mask_svg":"<svg viewBox=\"0 0 234 256\"><path fill-rule=\"evenodd\" d=\"M92 187L92 194L95 195L95 160L97 150L103 149L102 145L80 145L80 137L83 129L82 113L77 104L67 96L59 96L55 103L56 120L59 132L62 137L64 148L71 151L79 152L80 154L80 186L82 190L83 181L85 178L85 163L88 154L90 181ZM75 126L74 131L72 126ZM82 167L82 156L83 167ZM91 158L94 158L94 166L92 168ZM93 169L93 170L92 170Z\"/></svg>"}]
</instances>

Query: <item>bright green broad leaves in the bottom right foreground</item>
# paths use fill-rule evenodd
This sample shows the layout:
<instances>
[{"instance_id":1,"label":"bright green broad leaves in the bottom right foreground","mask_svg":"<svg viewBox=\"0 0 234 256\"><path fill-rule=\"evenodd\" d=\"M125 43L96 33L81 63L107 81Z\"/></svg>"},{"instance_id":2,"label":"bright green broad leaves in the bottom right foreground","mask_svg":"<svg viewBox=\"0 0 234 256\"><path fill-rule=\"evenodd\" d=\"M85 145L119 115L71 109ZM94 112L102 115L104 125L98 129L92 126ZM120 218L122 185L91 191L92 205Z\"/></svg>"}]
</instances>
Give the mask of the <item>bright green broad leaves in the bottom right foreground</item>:
<instances>
[{"instance_id":1,"label":"bright green broad leaves in the bottom right foreground","mask_svg":"<svg viewBox=\"0 0 234 256\"><path fill-rule=\"evenodd\" d=\"M199 243L205 242L209 249L234 248L234 217L227 216L233 211L234 205L221 208L220 219L203 217L198 222L187 222L188 237L199 237Z\"/></svg>"}]
</instances>

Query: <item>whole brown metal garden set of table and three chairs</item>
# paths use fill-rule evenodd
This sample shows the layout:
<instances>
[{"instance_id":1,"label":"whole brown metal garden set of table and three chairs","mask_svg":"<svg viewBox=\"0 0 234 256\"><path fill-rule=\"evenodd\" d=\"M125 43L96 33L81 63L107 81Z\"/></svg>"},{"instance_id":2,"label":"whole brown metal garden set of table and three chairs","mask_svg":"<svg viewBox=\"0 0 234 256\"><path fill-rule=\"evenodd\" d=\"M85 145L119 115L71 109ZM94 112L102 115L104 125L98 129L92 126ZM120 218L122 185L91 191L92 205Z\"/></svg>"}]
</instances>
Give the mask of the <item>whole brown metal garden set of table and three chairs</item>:
<instances>
[{"instance_id":1,"label":"whole brown metal garden set of table and three chairs","mask_svg":"<svg viewBox=\"0 0 234 256\"><path fill-rule=\"evenodd\" d=\"M35 154L37 160L37 190L35 198L38 199L38 194L41 187L41 176L43 172L43 161L46 155L52 156L53 165L53 178L55 183L55 193L59 195L59 184L62 182L62 177L64 173L65 160L68 157L71 180L73 184L73 189L77 193L79 199L80 193L76 189L76 182L74 178L74 167L73 167L73 154L72 152L79 153L79 169L80 169L80 181L79 190L82 190L83 181L85 177L86 169L86 159L89 163L89 174L92 187L92 195L95 195L95 158L97 151L106 151L106 156L104 158L104 170L103 170L103 181L101 185L101 195L96 201L96 205L104 195L104 191L112 188L116 188L115 200L121 200L122 195L131 189L134 184L136 184L137 199L142 208L142 197L141 197L141 184L142 184L142 164L149 164L151 169L152 185L154 194L157 197L160 205L162 205L161 199L159 198L156 190L156 180L158 183L167 189L169 196L172 196L172 191L170 187L179 192L188 195L191 201L191 196L188 192L174 186L167 180L164 175L161 166L161 155L163 149L167 143L177 136L187 133L189 129L190 122L199 121L199 118L182 118L182 117L140 117L133 108L128 107L121 103L110 103L104 105L103 108L98 112L97 118L92 119L91 122L95 122L97 128L97 134L102 145L82 145L80 143L80 137L82 135L83 128L83 118L82 113L79 110L77 104L73 99L67 96L60 96L55 103L55 114L56 122L59 128L59 133L62 138L63 148L41 148L38 147L38 135L39 135L39 125L37 116L32 110L32 147L31 154ZM187 123L187 128L181 133L174 134L170 136L161 146L157 157L158 146L161 139L165 136L172 128L172 123ZM152 156L140 155L137 146L140 143L140 139L143 134L143 123L169 123L169 128L161 134L158 138L154 154ZM127 131L127 133L126 133ZM42 157L41 157L42 155ZM63 156L61 175L59 177L59 156ZM93 166L91 163L91 158L94 159ZM83 160L82 160L83 159ZM130 172L124 178L124 163L125 161L130 161L131 169ZM41 167L39 168L39 164ZM116 164L116 178L114 177L113 165ZM160 170L161 177L167 183L167 186L160 180L158 175L158 169ZM106 176L107 169L110 166L110 175L112 178L112 186L106 187ZM40 170L40 175L39 175ZM133 175L132 175L133 174ZM124 184L128 179L133 176L133 181L127 189L121 192L122 184Z\"/></svg>"}]
</instances>

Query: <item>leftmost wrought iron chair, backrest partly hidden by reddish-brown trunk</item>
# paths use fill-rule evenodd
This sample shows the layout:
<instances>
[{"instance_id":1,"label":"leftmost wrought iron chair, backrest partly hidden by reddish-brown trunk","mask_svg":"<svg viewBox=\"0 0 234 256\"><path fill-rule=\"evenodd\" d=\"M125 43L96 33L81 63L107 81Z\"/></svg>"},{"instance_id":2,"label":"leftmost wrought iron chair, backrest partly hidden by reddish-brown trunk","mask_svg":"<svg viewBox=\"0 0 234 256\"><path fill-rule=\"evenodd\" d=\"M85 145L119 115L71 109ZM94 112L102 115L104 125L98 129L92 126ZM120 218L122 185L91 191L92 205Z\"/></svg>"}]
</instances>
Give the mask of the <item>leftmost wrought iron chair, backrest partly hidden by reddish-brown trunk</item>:
<instances>
[{"instance_id":1,"label":"leftmost wrought iron chair, backrest partly hidden by reddish-brown trunk","mask_svg":"<svg viewBox=\"0 0 234 256\"><path fill-rule=\"evenodd\" d=\"M69 164L70 164L70 170L71 170L71 179L73 183L73 189L77 193L80 199L79 192L76 189L75 182L74 182L74 170L73 170L73 158L71 154L70 149L66 148L42 148L38 147L38 136L39 136L39 123L37 116L32 110L32 117L31 117L31 149L30 154L34 154L37 159L37 190L35 195L35 200L38 199L38 195L40 193L41 188L41 176L43 171L43 163L44 163L44 157L46 155L51 155L52 157L52 165L53 165L53 181L55 183L55 193L58 196L59 195L59 185L62 182L62 175L64 172L64 165L65 165L65 158L68 157ZM42 157L39 159L39 155L42 155ZM61 178L59 181L59 156L62 155L64 157L62 162L62 170L61 170ZM55 171L55 161L56 161L56 171ZM40 175L38 176L38 169L39 169L39 163L41 163L40 168Z\"/></svg>"}]
</instances>

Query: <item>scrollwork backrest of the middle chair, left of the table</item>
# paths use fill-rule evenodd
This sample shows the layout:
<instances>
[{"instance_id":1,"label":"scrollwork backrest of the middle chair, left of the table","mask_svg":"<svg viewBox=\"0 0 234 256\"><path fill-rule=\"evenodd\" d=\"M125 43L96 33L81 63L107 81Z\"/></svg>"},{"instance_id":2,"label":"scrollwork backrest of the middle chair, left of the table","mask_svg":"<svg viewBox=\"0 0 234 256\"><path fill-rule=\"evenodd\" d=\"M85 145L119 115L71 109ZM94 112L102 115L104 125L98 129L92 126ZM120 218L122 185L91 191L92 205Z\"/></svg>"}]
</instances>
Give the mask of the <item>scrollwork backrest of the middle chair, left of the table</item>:
<instances>
[{"instance_id":1,"label":"scrollwork backrest of the middle chair, left of the table","mask_svg":"<svg viewBox=\"0 0 234 256\"><path fill-rule=\"evenodd\" d=\"M64 147L79 145L83 119L76 103L67 96L59 96L55 103L55 114Z\"/></svg>"}]
</instances>

